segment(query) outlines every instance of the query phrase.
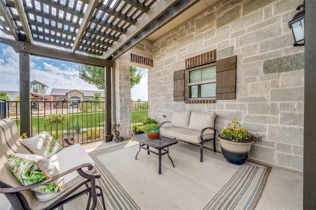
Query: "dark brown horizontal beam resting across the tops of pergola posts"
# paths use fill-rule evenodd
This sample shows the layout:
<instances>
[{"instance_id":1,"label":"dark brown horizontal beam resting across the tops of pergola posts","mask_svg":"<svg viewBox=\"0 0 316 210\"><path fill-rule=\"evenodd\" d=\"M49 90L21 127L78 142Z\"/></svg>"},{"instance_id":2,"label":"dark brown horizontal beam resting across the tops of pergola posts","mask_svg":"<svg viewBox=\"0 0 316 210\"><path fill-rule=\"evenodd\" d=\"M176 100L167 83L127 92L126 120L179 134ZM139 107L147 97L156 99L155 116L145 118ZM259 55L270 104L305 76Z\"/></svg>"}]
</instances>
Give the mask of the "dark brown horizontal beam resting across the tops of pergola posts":
<instances>
[{"instance_id":1,"label":"dark brown horizontal beam resting across the tops of pergola posts","mask_svg":"<svg viewBox=\"0 0 316 210\"><path fill-rule=\"evenodd\" d=\"M66 52L64 50L58 50L54 48L49 48L45 46L40 46L36 44L31 44L23 41L17 41L2 37L0 37L0 42L10 45L16 51L28 52L32 55L37 55L44 58L53 58L57 60L97 67L113 67L113 61Z\"/></svg>"}]
</instances>

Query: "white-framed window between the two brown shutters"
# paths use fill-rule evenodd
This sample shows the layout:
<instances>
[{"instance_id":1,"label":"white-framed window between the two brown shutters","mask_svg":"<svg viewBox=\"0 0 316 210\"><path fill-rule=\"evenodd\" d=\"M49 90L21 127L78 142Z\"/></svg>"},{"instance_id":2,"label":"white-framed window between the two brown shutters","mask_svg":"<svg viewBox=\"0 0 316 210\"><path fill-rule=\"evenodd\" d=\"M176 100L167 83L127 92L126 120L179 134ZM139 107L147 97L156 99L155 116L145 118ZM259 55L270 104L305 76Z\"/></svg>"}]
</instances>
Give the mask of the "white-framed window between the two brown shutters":
<instances>
[{"instance_id":1,"label":"white-framed window between the two brown shutters","mask_svg":"<svg viewBox=\"0 0 316 210\"><path fill-rule=\"evenodd\" d=\"M216 97L216 65L189 71L189 99Z\"/></svg>"}]
</instances>

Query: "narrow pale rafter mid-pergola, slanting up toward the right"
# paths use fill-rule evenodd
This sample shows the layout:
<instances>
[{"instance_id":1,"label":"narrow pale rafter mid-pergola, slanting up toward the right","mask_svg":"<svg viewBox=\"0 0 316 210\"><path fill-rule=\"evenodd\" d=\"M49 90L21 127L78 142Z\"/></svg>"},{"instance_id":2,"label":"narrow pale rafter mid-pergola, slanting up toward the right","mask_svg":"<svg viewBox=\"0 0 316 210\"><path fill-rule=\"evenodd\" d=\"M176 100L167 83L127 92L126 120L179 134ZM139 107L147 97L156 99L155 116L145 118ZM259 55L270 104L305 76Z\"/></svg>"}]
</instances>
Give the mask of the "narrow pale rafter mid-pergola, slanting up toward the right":
<instances>
[{"instance_id":1,"label":"narrow pale rafter mid-pergola, slanting up toward the right","mask_svg":"<svg viewBox=\"0 0 316 210\"><path fill-rule=\"evenodd\" d=\"M94 12L95 8L98 5L98 2L99 1L97 1L97 0L94 0L94 1L91 0L88 3L87 9L86 9L86 11L85 11L85 13L83 15L82 23L80 24L79 31L78 31L78 34L77 34L76 39L74 41L74 45L73 45L73 48L71 49L71 52L75 52L76 49L78 48L79 43L81 41L81 38L82 38L82 36L84 34L84 31L85 31L85 29L88 26L88 23L89 23L92 15L93 15L93 12Z\"/></svg>"}]
</instances>

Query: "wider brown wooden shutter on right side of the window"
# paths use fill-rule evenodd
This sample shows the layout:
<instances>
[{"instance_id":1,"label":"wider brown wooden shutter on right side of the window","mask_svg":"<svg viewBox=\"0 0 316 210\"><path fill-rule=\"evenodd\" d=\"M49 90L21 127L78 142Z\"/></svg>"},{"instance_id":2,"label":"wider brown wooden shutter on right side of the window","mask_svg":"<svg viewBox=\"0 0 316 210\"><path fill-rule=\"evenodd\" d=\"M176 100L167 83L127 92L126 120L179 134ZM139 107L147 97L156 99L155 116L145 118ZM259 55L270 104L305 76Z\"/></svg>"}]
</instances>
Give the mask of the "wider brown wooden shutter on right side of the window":
<instances>
[{"instance_id":1,"label":"wider brown wooden shutter on right side of the window","mask_svg":"<svg viewBox=\"0 0 316 210\"><path fill-rule=\"evenodd\" d=\"M216 100L236 99L237 56L216 61Z\"/></svg>"}]
</instances>

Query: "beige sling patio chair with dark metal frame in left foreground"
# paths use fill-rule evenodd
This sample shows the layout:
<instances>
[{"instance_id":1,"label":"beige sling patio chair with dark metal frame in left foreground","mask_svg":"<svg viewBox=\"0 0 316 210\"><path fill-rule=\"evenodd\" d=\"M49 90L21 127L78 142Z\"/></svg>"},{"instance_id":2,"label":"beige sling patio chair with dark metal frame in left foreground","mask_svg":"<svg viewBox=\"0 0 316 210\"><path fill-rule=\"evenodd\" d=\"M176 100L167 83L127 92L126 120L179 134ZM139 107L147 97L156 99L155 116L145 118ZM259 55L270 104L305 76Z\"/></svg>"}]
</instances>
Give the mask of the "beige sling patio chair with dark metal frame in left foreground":
<instances>
[{"instance_id":1,"label":"beige sling patio chair with dark metal frame in left foreground","mask_svg":"<svg viewBox=\"0 0 316 210\"><path fill-rule=\"evenodd\" d=\"M61 149L58 151L55 156L54 161L59 161L58 164L66 165L69 169L60 171L58 175L54 175L49 179L44 181L31 184L31 185L22 185L18 179L11 173L11 170L8 166L8 155L10 153L22 153L22 154L31 154L30 150L23 146L18 140L21 139L18 135L16 123L8 118L0 120L0 193L3 193L8 201L10 202L12 209L14 210L52 210L57 209L62 210L63 205L80 197L83 194L89 194L87 207L95 209L97 205L97 196L101 197L103 209L105 209L104 198L102 189L96 185L95 180L99 178L100 175L96 174L94 162L91 157L84 151L80 144L72 144L67 138L64 139L66 143L70 146ZM81 148L81 149L80 149ZM74 151L76 149L76 151ZM71 151L73 150L73 151ZM60 153L60 154L58 154ZM77 153L77 154L75 154ZM65 157L65 154L68 154L68 158ZM53 157L52 156L52 157ZM64 157L63 157L64 156ZM77 157L76 157L77 156ZM79 156L79 157L78 157ZM57 160L60 157L60 160ZM74 162L85 159L86 163L79 163L73 165ZM75 159L75 160L74 160ZM89 159L92 160L88 161ZM79 161L80 162L80 161ZM67 166L71 165L71 166ZM39 198L36 196L36 193L31 188L40 186L44 183L48 183L52 180L55 180L59 177L65 178L68 180L67 183L71 186L65 184L66 190L60 193L40 193L42 194L42 199L45 200L48 197L49 200L40 202ZM73 177L73 179L69 178ZM97 193L97 189L99 193ZM37 193L38 194L38 193ZM92 200L92 204L91 204ZM90 207L91 204L91 207Z\"/></svg>"}]
</instances>

